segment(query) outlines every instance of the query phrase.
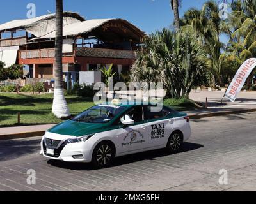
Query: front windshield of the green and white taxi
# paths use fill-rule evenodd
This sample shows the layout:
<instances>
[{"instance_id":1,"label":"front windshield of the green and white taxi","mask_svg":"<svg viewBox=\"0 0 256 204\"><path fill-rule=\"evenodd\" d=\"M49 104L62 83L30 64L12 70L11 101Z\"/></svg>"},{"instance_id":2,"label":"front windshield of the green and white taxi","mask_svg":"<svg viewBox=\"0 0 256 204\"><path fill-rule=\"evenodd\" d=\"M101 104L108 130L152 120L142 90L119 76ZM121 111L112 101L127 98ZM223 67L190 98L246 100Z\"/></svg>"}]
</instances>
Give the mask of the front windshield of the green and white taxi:
<instances>
[{"instance_id":1,"label":"front windshield of the green and white taxi","mask_svg":"<svg viewBox=\"0 0 256 204\"><path fill-rule=\"evenodd\" d=\"M123 106L97 105L77 115L72 120L86 123L106 123L125 109Z\"/></svg>"}]
</instances>

